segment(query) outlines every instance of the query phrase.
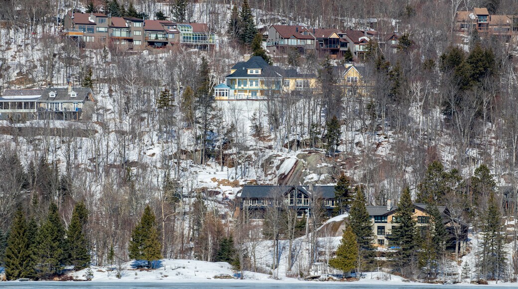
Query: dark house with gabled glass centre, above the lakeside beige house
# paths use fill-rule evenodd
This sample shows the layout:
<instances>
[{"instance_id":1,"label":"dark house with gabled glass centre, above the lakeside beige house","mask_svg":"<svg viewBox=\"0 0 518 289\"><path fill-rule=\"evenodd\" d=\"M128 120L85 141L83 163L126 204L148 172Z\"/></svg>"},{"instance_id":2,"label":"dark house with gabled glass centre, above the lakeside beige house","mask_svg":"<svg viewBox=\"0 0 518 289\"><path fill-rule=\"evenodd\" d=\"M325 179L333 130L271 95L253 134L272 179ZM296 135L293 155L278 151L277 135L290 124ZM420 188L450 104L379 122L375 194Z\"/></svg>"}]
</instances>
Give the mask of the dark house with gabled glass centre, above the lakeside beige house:
<instances>
[{"instance_id":1,"label":"dark house with gabled glass centre, above the lakeside beige house","mask_svg":"<svg viewBox=\"0 0 518 289\"><path fill-rule=\"evenodd\" d=\"M335 208L333 185L245 185L238 193L240 208L262 218L266 208L276 206L297 211L299 217L311 213L312 201L322 202L328 216Z\"/></svg>"}]
</instances>

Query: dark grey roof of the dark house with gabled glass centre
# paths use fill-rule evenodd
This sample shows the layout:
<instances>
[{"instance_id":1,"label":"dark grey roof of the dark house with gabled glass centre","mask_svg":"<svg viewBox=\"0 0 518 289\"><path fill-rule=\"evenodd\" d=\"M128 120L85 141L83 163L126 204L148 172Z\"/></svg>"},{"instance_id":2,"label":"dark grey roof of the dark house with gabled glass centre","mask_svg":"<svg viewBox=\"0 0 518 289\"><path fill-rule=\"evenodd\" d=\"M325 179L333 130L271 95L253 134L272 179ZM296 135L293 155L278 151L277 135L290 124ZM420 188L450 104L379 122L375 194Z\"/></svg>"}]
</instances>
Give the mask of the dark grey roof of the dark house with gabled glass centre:
<instances>
[{"instance_id":1,"label":"dark grey roof of the dark house with gabled glass centre","mask_svg":"<svg viewBox=\"0 0 518 289\"><path fill-rule=\"evenodd\" d=\"M292 186L292 185L245 185L240 191L240 198L271 198L273 194L285 194L292 189L297 189L306 195L311 193L320 194L323 198L335 197L334 185L314 185L311 191L309 186ZM310 192L311 191L311 192Z\"/></svg>"}]
</instances>

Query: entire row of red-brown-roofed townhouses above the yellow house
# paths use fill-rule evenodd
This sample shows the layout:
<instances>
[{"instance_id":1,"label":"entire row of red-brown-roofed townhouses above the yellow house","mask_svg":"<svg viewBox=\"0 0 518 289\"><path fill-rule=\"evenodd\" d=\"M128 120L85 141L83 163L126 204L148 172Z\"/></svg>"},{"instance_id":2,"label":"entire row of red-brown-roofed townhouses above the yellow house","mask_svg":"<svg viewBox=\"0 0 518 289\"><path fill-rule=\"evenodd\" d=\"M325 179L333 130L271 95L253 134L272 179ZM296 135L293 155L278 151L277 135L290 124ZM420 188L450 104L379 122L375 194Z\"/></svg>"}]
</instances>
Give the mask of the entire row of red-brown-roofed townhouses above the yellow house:
<instances>
[{"instance_id":1,"label":"entire row of red-brown-roofed townhouses above the yellow house","mask_svg":"<svg viewBox=\"0 0 518 289\"><path fill-rule=\"evenodd\" d=\"M268 28L266 49L271 54L285 54L290 49L301 54L315 51L320 55L340 59L346 50L350 50L354 57L361 56L371 38L378 38L378 33L367 30L308 28L301 25L271 25Z\"/></svg>"}]
</instances>

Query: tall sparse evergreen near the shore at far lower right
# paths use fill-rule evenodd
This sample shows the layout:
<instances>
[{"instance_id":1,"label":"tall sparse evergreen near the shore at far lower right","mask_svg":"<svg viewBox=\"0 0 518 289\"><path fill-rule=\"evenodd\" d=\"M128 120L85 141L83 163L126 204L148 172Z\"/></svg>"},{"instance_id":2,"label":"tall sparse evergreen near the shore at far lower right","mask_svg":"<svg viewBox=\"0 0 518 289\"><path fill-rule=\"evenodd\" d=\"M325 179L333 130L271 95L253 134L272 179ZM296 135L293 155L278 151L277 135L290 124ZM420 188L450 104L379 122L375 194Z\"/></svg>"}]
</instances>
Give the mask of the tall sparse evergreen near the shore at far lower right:
<instances>
[{"instance_id":1,"label":"tall sparse evergreen near the shore at far lower right","mask_svg":"<svg viewBox=\"0 0 518 289\"><path fill-rule=\"evenodd\" d=\"M491 192L482 224L479 271L485 279L500 280L507 271L505 229L495 195Z\"/></svg>"}]
</instances>

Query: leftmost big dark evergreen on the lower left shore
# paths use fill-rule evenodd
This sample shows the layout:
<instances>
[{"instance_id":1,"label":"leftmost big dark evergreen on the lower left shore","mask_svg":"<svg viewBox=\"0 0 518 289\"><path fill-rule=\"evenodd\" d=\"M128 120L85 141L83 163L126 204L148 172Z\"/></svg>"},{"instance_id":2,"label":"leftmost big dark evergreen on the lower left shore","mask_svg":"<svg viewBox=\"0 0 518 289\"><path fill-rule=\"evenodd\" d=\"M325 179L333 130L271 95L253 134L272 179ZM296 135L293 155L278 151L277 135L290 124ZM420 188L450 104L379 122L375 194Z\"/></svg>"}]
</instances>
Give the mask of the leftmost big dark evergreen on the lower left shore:
<instances>
[{"instance_id":1,"label":"leftmost big dark evergreen on the lower left shore","mask_svg":"<svg viewBox=\"0 0 518 289\"><path fill-rule=\"evenodd\" d=\"M7 248L5 252L5 271L8 280L30 278L34 276L32 267L33 254L28 238L27 222L25 214L18 208L15 220L11 225Z\"/></svg>"}]
</instances>

